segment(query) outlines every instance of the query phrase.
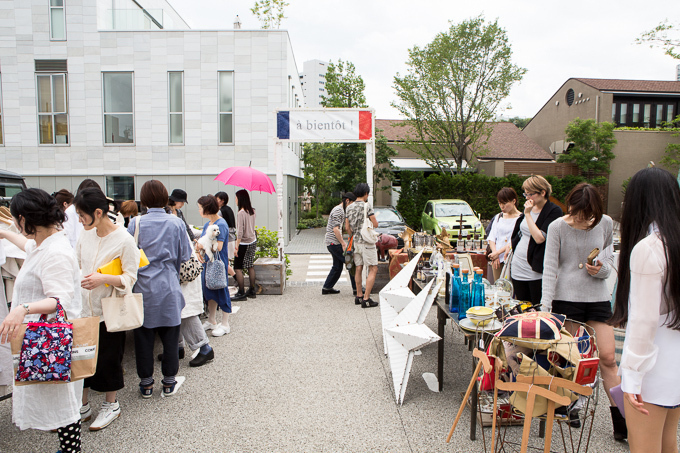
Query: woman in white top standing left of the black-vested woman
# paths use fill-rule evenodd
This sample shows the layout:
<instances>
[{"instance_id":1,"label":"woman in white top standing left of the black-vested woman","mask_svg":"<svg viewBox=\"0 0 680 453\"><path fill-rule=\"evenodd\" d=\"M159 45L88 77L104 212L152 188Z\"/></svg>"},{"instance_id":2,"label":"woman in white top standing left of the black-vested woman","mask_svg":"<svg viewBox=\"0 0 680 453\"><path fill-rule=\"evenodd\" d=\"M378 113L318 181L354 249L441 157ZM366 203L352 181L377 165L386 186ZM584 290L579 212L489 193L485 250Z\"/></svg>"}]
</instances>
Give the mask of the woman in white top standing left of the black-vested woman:
<instances>
[{"instance_id":1,"label":"woman in white top standing left of the black-vested woman","mask_svg":"<svg viewBox=\"0 0 680 453\"><path fill-rule=\"evenodd\" d=\"M494 280L498 280L501 276L505 257L512 249L510 238L520 214L517 209L517 192L512 187L503 187L498 191L496 199L501 212L496 215L487 238L489 248L491 248L489 260L491 261Z\"/></svg>"}]
</instances>

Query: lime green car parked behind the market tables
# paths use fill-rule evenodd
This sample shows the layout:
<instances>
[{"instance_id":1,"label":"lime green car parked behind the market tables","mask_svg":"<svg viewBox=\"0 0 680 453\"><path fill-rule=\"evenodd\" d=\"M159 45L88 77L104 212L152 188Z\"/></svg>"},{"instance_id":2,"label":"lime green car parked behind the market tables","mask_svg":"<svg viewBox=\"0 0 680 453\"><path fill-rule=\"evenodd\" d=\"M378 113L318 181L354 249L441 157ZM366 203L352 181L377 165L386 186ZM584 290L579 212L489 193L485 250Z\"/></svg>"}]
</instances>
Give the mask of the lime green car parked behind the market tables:
<instances>
[{"instance_id":1,"label":"lime green car parked behind the market tables","mask_svg":"<svg viewBox=\"0 0 680 453\"><path fill-rule=\"evenodd\" d=\"M461 227L460 220L463 224ZM432 234L440 234L442 228L451 236L451 243L458 241L458 231L465 237L479 234L484 238L484 227L479 220L479 215L472 210L469 204L463 200L430 200L425 203L425 209L421 216L423 231Z\"/></svg>"}]
</instances>

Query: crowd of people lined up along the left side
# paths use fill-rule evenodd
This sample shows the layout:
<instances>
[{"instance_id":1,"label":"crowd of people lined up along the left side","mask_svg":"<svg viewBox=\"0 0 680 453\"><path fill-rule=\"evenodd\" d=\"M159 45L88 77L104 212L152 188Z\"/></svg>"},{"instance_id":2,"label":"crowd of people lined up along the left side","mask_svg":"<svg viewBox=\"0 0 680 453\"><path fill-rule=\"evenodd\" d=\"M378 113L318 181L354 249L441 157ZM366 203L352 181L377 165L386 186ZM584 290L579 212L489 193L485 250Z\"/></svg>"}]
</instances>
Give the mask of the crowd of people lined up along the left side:
<instances>
[{"instance_id":1,"label":"crowd of people lined up along the left side","mask_svg":"<svg viewBox=\"0 0 680 453\"><path fill-rule=\"evenodd\" d=\"M134 200L124 201L116 209L116 202L107 198L91 179L84 180L75 195L66 189L50 195L32 188L13 197L10 212L15 228L0 229L0 238L24 250L26 258L14 285L12 308L0 324L0 342L16 336L20 324L36 321L41 314L54 313L57 304L69 319L99 317L100 321L93 376L60 385L15 386L12 414L20 429L56 431L62 452L79 452L81 423L94 418L89 430L98 431L120 416L117 392L125 385L126 332L108 331L102 309L102 300L114 292L143 295L144 321L133 330L139 392L143 398L150 398L154 392L156 336L163 351L157 357L163 375L162 397L177 394L185 380L178 376L185 347L197 351L189 366L203 366L214 359L207 331L212 330L213 337L228 334L232 300L256 297L255 210L247 191L239 190L236 197L237 217L224 192L198 199L199 213L206 219L200 234L187 224L181 210L188 202L187 193L175 189L168 195L166 187L157 180L147 181L141 187L142 215ZM228 286L208 289L205 268L200 277L180 281L180 269L192 257L206 263L205 250L195 240L210 225L219 227L214 259L220 260L225 272L235 277L239 288L235 297L230 297ZM140 249L149 261L143 267ZM121 275L97 271L114 259L120 260ZM249 273L247 293L243 269ZM206 306L208 320L202 324L199 316ZM222 312L219 321L218 309ZM96 416L88 398L90 389L105 394Z\"/></svg>"}]
</instances>

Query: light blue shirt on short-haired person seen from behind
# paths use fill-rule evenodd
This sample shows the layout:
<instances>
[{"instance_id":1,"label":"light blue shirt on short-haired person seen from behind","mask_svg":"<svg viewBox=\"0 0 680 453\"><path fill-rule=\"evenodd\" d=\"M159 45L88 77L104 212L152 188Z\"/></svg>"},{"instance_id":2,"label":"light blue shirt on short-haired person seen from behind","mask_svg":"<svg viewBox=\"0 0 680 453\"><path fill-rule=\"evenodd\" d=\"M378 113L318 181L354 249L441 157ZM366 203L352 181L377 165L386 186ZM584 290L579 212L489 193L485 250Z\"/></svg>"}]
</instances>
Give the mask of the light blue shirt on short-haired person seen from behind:
<instances>
[{"instance_id":1,"label":"light blue shirt on short-haired person seen from behind","mask_svg":"<svg viewBox=\"0 0 680 453\"><path fill-rule=\"evenodd\" d=\"M139 268L133 292L144 294L144 327L178 326L184 308L179 269L191 257L184 222L161 208L149 209L139 221L139 248L150 264ZM128 232L133 236L136 226L132 219Z\"/></svg>"}]
</instances>

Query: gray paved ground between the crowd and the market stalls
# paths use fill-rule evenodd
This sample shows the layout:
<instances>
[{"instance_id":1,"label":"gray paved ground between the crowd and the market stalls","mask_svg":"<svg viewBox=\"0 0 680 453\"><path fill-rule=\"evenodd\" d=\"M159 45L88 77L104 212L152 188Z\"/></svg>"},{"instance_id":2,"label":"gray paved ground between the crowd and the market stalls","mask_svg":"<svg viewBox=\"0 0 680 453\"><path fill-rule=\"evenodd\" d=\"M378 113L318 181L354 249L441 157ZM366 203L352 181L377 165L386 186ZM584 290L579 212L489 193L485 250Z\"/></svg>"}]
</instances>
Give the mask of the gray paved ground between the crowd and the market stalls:
<instances>
[{"instance_id":1,"label":"gray paved ground between the crowd and the market stalls","mask_svg":"<svg viewBox=\"0 0 680 453\"><path fill-rule=\"evenodd\" d=\"M291 287L282 296L240 302L232 332L210 337L216 359L201 368L180 361L187 380L161 398L160 365L149 400L137 390L134 345L128 335L121 417L99 432L84 425L84 452L482 452L481 430L469 440L465 411L445 442L470 380L470 356L460 333L446 326L444 391L428 389L423 373L436 370L437 346L416 356L403 406L394 402L383 355L380 311L355 306L349 287L321 296L319 288ZM436 331L436 309L426 324ZM158 342L157 342L158 343ZM157 344L157 351L161 352ZM604 392L591 452L628 451L611 435ZM103 395L94 393L93 408ZM95 409L96 410L96 409ZM537 431L537 423L533 426ZM54 452L57 435L19 431L11 400L0 402L0 452ZM484 430L486 439L490 429ZM521 427L511 428L519 439ZM553 451L561 447L559 430ZM537 439L535 439L537 440Z\"/></svg>"}]
</instances>

